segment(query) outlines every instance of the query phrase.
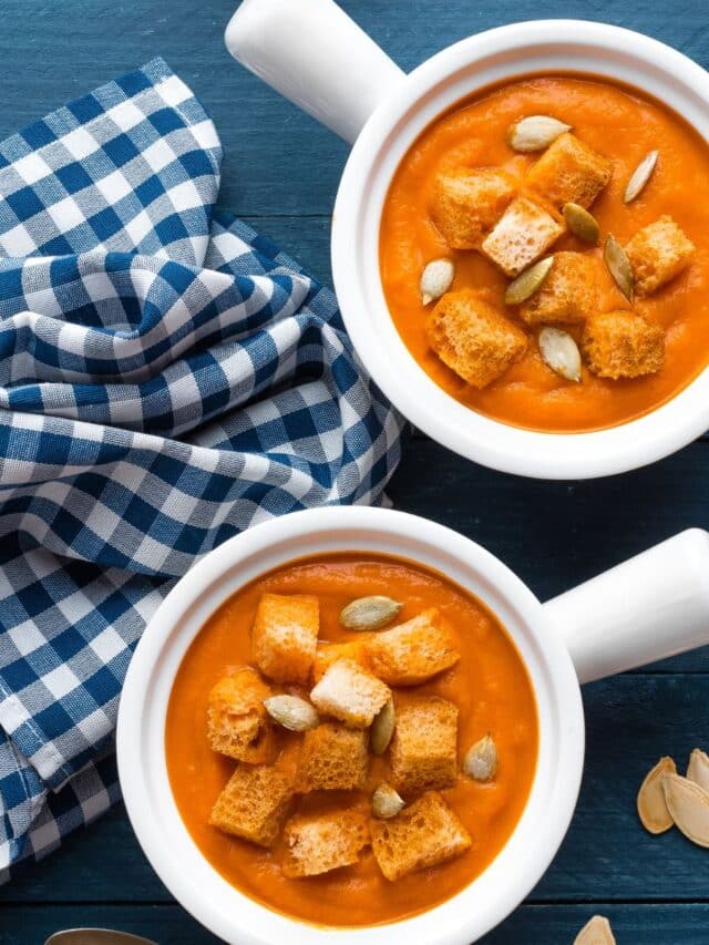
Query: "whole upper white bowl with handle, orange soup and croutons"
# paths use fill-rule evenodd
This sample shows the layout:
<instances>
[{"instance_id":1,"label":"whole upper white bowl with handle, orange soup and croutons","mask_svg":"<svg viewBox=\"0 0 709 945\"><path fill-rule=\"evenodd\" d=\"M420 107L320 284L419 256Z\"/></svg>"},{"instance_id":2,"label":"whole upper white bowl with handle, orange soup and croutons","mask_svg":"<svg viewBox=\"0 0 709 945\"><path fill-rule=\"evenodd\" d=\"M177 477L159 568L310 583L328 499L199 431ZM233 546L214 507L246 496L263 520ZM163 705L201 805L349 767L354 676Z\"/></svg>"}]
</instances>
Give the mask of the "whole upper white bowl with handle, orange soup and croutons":
<instances>
[{"instance_id":1,"label":"whole upper white bowl with handle, orange soup and croutons","mask_svg":"<svg viewBox=\"0 0 709 945\"><path fill-rule=\"evenodd\" d=\"M226 39L354 142L335 285L417 427L548 479L637 468L709 427L703 69L616 27L537 21L404 76L331 0L245 0Z\"/></svg>"}]
</instances>

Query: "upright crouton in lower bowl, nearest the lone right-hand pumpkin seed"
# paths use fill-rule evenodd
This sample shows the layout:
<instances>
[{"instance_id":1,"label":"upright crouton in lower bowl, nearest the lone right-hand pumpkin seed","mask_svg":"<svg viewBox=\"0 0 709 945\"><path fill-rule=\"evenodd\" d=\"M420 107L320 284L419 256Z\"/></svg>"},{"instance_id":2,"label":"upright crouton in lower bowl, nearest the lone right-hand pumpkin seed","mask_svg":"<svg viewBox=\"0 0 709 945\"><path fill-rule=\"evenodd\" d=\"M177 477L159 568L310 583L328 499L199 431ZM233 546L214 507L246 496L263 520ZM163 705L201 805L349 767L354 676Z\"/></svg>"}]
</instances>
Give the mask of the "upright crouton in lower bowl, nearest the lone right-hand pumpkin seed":
<instances>
[{"instance_id":1,"label":"upright crouton in lower bowl, nearest the lone right-hand pumpkin seed","mask_svg":"<svg viewBox=\"0 0 709 945\"><path fill-rule=\"evenodd\" d=\"M458 774L458 708L438 696L398 699L390 754L399 793L450 788Z\"/></svg>"}]
</instances>

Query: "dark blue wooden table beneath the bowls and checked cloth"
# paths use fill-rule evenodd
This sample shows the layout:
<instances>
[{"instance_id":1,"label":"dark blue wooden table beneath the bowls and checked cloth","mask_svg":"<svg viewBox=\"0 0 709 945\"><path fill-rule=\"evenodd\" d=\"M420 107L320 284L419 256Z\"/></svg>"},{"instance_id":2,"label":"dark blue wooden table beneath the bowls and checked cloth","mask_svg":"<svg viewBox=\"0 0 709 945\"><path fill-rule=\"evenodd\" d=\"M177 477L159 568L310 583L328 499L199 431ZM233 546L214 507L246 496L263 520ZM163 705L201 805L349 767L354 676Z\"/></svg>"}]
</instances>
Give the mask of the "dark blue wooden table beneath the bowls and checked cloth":
<instances>
[{"instance_id":1,"label":"dark blue wooden table beneath the bowls and checked cloth","mask_svg":"<svg viewBox=\"0 0 709 945\"><path fill-rule=\"evenodd\" d=\"M222 199L329 281L330 210L346 146L234 63L234 0L2 0L0 136L163 55L214 117ZM342 0L404 69L463 35L514 20L579 17L631 27L709 64L706 0ZM709 81L709 80L708 80ZM546 598L689 525L709 526L709 441L651 469L541 483L471 465L412 436L391 486L400 509L451 525ZM709 747L709 653L588 686L580 802L552 869L487 945L568 945L594 912L619 945L707 945L709 859L676 831L649 838L635 794L660 754ZM0 943L33 945L106 925L169 945L216 939L169 896L119 807L0 890Z\"/></svg>"}]
</instances>

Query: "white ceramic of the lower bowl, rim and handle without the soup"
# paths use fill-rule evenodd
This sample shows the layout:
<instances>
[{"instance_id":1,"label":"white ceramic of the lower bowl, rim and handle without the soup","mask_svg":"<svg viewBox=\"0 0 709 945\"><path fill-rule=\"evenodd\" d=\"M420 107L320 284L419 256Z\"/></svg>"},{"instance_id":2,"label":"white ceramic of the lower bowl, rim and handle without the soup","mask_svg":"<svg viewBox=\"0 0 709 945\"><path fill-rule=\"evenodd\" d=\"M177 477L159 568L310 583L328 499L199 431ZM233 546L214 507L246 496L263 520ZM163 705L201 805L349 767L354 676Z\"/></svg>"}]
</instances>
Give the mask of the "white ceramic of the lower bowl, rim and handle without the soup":
<instances>
[{"instance_id":1,"label":"white ceramic of the lower bowl, rim and handle without the soup","mask_svg":"<svg viewBox=\"0 0 709 945\"><path fill-rule=\"evenodd\" d=\"M494 862L467 888L422 915L357 929L325 929L287 918L222 879L179 816L164 744L175 674L209 615L265 572L294 558L338 551L413 559L480 598L500 618L524 659L540 723L530 799ZM248 628L235 628L238 631L248 633ZM257 525L208 554L151 620L121 698L117 753L123 797L141 845L165 885L226 942L467 945L527 895L566 833L584 760L579 679L595 679L708 641L709 535L705 532L684 532L543 606L480 545L424 518L361 506L298 512Z\"/></svg>"}]
</instances>

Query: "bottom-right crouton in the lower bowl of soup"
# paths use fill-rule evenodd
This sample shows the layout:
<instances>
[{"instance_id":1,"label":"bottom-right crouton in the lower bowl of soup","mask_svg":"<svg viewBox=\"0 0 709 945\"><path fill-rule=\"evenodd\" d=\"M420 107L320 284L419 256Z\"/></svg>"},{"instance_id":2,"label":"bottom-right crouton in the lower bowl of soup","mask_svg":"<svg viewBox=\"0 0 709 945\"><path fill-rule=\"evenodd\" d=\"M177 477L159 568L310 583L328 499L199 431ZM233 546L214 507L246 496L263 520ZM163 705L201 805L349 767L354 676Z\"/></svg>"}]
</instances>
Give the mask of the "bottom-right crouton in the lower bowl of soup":
<instances>
[{"instance_id":1,"label":"bottom-right crouton in the lower bowl of soup","mask_svg":"<svg viewBox=\"0 0 709 945\"><path fill-rule=\"evenodd\" d=\"M372 820L372 850L390 881L460 856L471 839L435 791L423 794L390 820Z\"/></svg>"}]
</instances>

